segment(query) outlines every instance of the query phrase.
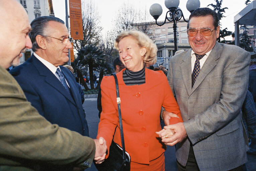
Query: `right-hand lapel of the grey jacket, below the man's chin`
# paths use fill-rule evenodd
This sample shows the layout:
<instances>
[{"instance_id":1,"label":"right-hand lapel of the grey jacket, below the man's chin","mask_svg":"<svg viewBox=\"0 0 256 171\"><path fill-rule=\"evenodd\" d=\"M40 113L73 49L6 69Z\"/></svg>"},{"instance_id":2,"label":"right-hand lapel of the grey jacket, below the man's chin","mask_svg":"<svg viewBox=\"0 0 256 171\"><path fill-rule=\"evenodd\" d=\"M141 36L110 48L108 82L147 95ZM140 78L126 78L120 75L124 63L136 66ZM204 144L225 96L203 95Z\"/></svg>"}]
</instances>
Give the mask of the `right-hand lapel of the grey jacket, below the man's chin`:
<instances>
[{"instance_id":1,"label":"right-hand lapel of the grey jacket, below the man's chin","mask_svg":"<svg viewBox=\"0 0 256 171\"><path fill-rule=\"evenodd\" d=\"M207 57L206 61L204 62L202 69L200 70L193 88L191 90L191 94L195 91L195 89L200 85L206 75L215 67L217 64L216 60L220 58L220 44L216 42L214 48L212 48L210 55ZM191 60L190 60L191 61ZM190 95L191 95L190 94Z\"/></svg>"}]
</instances>

